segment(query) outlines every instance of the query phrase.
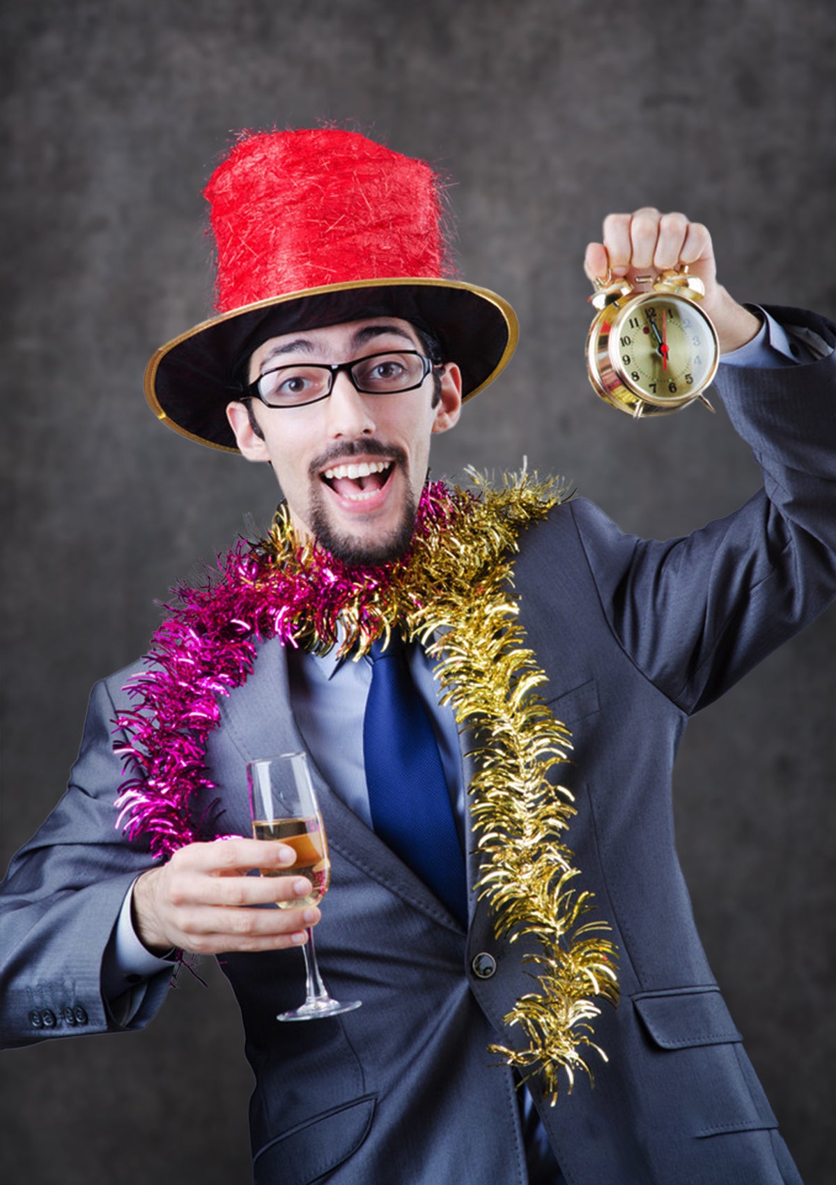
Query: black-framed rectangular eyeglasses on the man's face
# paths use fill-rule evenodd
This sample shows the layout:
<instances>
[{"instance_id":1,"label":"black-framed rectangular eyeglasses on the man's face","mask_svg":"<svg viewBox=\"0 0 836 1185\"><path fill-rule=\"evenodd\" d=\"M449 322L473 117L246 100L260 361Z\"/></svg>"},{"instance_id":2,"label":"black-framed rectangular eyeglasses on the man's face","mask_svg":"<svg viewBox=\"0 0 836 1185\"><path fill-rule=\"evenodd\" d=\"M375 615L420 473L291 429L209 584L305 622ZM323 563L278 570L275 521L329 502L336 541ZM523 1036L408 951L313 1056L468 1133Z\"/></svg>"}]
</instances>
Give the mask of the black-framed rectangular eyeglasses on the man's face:
<instances>
[{"instance_id":1,"label":"black-framed rectangular eyeglasses on the man's face","mask_svg":"<svg viewBox=\"0 0 836 1185\"><path fill-rule=\"evenodd\" d=\"M362 395L391 395L414 391L434 369L417 350L368 354L351 363L294 363L264 371L244 389L244 397L261 399L268 408L301 408L326 399L340 371Z\"/></svg>"}]
</instances>

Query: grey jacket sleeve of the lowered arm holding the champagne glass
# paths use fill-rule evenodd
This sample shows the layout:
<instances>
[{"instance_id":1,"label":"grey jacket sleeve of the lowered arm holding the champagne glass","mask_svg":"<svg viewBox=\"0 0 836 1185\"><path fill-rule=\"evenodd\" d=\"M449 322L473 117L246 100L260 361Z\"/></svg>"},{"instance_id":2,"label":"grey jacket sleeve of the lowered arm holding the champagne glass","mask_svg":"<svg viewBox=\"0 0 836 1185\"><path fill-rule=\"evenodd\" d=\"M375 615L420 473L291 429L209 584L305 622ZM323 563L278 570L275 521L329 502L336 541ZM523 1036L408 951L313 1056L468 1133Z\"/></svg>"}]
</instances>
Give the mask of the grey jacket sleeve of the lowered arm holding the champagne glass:
<instances>
[{"instance_id":1,"label":"grey jacket sleeve of the lowered arm holding the champagne glass","mask_svg":"<svg viewBox=\"0 0 836 1185\"><path fill-rule=\"evenodd\" d=\"M120 686L123 678L114 677ZM154 864L116 830L122 766L106 683L90 696L78 760L63 799L14 857L0 886L2 1045L143 1027L170 974L155 975L127 1025L102 995L102 959L135 877Z\"/></svg>"}]
</instances>

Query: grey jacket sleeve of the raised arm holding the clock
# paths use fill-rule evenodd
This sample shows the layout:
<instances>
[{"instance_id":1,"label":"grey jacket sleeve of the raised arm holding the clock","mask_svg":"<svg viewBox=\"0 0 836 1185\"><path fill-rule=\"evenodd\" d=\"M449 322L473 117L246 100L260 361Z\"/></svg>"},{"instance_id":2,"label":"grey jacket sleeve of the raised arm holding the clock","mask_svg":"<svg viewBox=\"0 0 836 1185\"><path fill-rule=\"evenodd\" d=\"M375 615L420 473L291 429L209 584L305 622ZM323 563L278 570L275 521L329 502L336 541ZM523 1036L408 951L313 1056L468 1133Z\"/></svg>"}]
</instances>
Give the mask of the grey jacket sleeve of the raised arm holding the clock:
<instances>
[{"instance_id":1,"label":"grey jacket sleeve of the raised arm holding the clock","mask_svg":"<svg viewBox=\"0 0 836 1185\"><path fill-rule=\"evenodd\" d=\"M784 325L835 327L796 309ZM575 524L610 628L637 667L691 713L836 596L836 354L778 369L721 367L732 424L764 487L739 511L665 542L624 534L595 507Z\"/></svg>"}]
</instances>

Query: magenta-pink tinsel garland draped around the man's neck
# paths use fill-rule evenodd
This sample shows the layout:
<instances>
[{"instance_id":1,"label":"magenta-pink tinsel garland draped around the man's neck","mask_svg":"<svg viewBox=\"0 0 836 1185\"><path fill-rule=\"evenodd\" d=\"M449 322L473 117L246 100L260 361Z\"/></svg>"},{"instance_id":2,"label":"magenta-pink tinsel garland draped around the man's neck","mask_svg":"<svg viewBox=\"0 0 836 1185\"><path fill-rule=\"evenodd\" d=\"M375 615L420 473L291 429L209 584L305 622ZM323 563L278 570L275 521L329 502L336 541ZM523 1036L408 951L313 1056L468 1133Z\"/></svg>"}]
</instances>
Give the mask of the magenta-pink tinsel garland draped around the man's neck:
<instances>
[{"instance_id":1,"label":"magenta-pink tinsel garland draped around the man's neck","mask_svg":"<svg viewBox=\"0 0 836 1185\"><path fill-rule=\"evenodd\" d=\"M461 498L442 482L425 486L413 547L433 526L452 523ZM133 773L116 800L116 826L126 837L149 835L157 857L213 838L206 816L215 784L204 757L206 738L221 720L218 697L247 681L261 641L277 638L283 645L328 649L349 604L359 636L375 638L385 628L387 589L410 555L411 549L379 568L349 569L321 549L304 553L298 547L294 562L281 566L263 542L241 542L218 561L221 578L178 588L167 607L171 616L145 658L147 670L123 688L134 706L115 722L126 741L114 750ZM198 794L206 803L202 819L193 818Z\"/></svg>"}]
</instances>

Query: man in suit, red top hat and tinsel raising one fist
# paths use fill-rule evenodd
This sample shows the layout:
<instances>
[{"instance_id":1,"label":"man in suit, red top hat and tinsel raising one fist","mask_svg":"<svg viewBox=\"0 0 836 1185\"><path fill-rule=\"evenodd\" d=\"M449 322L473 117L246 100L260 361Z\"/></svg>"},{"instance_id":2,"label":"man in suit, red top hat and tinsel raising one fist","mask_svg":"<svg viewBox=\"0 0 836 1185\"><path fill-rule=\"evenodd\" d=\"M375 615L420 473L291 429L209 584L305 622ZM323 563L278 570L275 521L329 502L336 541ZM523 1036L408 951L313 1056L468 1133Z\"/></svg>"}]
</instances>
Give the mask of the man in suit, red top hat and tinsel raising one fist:
<instances>
[{"instance_id":1,"label":"man in suit, red top hat and tinsel raising one fist","mask_svg":"<svg viewBox=\"0 0 836 1185\"><path fill-rule=\"evenodd\" d=\"M703 280L768 491L645 543L524 480L426 485L432 435L516 340L502 299L442 277L427 166L350 133L250 136L208 196L221 313L158 352L147 391L184 435L269 462L286 511L183 594L148 668L94 691L71 789L5 890L7 1042L141 1027L177 952L213 953L257 1080L256 1181L797 1181L696 936L670 767L687 716L836 590L832 329L733 301L681 214L607 219L591 278ZM443 783L409 784L394 824L390 635ZM242 770L299 749L332 889L264 909L309 885L249 876L294 853L243 838ZM362 1007L279 1024L314 924L328 987ZM569 1089L585 1066L594 1088Z\"/></svg>"}]
</instances>

